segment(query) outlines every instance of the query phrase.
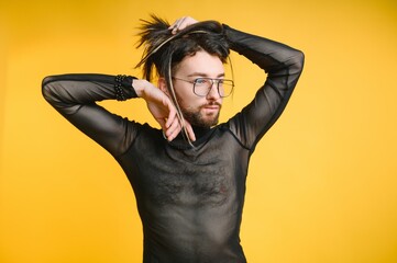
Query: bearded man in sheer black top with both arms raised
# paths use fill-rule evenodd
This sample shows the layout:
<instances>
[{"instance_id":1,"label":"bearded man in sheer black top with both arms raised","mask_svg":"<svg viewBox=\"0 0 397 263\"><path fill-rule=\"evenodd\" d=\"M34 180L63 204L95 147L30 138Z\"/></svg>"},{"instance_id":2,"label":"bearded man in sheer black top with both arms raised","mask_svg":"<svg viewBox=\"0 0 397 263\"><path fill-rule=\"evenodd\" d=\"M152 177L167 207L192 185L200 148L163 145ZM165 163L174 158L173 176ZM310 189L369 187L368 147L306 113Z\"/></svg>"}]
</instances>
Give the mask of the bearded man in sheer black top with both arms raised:
<instances>
[{"instance_id":1,"label":"bearded man in sheer black top with both arms raised","mask_svg":"<svg viewBox=\"0 0 397 263\"><path fill-rule=\"evenodd\" d=\"M107 149L135 193L144 262L246 262L240 224L250 157L285 108L301 52L214 21L157 18L142 27L144 77L64 75L43 81L44 98ZM268 77L254 100L218 125L233 81L229 48ZM158 75L152 84L153 69ZM241 89L247 89L241 87ZM162 129L117 116L101 100L142 98Z\"/></svg>"}]
</instances>

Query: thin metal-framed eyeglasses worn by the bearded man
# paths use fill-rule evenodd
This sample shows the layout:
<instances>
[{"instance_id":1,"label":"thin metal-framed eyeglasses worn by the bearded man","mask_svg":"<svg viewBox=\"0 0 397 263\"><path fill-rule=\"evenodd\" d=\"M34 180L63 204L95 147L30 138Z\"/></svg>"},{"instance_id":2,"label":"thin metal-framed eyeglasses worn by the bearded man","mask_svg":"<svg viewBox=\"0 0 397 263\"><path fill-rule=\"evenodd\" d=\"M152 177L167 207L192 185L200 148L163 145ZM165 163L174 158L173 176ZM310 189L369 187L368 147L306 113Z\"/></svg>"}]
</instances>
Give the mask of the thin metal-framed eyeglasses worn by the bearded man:
<instances>
[{"instance_id":1,"label":"thin metal-framed eyeglasses worn by the bearded man","mask_svg":"<svg viewBox=\"0 0 397 263\"><path fill-rule=\"evenodd\" d=\"M191 83L192 92L198 96L207 96L214 83L217 84L218 93L221 98L232 94L234 88L234 81L228 79L197 78L195 80L185 80L176 77L173 77L173 79Z\"/></svg>"}]
</instances>

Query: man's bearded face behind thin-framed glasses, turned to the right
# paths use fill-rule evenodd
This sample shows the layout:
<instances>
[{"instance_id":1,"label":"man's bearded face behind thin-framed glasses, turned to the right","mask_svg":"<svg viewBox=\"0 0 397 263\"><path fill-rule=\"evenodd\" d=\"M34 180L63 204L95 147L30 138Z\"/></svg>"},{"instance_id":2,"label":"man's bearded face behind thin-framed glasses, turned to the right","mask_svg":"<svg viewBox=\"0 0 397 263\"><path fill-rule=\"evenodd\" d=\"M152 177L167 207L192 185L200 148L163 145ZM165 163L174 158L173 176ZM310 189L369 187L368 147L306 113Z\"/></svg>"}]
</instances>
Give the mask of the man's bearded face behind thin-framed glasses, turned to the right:
<instances>
[{"instance_id":1,"label":"man's bearded face behind thin-framed glasses, turned to the right","mask_svg":"<svg viewBox=\"0 0 397 263\"><path fill-rule=\"evenodd\" d=\"M197 52L194 56L185 57L173 73L174 89L184 117L194 126L211 127L218 124L222 105L222 98L218 93L217 84L207 96L194 93L194 82L197 78L219 79L224 77L222 61L217 56L206 52ZM178 78L178 79L175 79Z\"/></svg>"}]
</instances>

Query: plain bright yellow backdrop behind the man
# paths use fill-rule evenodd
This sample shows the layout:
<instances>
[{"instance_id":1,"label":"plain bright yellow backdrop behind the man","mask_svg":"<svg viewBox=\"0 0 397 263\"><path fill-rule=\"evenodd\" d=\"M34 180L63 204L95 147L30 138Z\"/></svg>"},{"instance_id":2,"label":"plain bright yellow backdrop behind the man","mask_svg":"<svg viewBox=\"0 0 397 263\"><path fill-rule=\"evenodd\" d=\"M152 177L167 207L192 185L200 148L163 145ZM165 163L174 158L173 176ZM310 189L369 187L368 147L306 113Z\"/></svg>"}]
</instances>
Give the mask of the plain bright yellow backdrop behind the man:
<instances>
[{"instance_id":1,"label":"plain bright yellow backdrop behind the man","mask_svg":"<svg viewBox=\"0 0 397 263\"><path fill-rule=\"evenodd\" d=\"M241 232L249 262L397 262L395 0L2 0L0 262L141 262L123 172L42 99L41 80L141 76L134 34L150 13L219 20L306 54L287 110L252 159ZM236 91L222 119L264 78L232 59ZM104 104L153 123L140 100Z\"/></svg>"}]
</instances>

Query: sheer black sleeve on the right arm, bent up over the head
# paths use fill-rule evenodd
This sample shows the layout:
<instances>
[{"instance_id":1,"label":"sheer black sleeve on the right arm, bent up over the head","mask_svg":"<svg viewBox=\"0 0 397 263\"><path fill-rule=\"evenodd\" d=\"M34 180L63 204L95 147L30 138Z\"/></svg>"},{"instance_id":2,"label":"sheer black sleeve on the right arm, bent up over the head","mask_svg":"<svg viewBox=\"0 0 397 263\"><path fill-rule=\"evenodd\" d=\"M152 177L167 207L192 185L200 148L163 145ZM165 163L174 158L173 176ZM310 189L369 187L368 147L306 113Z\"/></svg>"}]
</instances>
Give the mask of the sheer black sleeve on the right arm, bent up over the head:
<instances>
[{"instance_id":1,"label":"sheer black sleeve on the right arm, bent up over the head","mask_svg":"<svg viewBox=\"0 0 397 263\"><path fill-rule=\"evenodd\" d=\"M300 50L223 25L231 49L267 72L255 99L234 116L229 126L242 145L254 150L258 139L283 113L304 68ZM242 89L245 89L242 87Z\"/></svg>"}]
</instances>

